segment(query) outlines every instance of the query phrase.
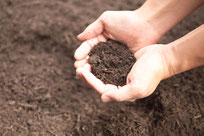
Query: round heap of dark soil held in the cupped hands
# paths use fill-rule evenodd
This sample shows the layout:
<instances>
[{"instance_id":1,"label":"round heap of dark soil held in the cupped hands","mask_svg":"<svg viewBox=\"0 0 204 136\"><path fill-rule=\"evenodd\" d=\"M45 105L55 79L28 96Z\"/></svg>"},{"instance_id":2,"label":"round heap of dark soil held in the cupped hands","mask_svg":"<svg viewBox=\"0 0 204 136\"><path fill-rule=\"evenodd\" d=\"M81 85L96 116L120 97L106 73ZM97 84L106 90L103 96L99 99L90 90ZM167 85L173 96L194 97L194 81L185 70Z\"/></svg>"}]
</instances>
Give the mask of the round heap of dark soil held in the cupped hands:
<instances>
[{"instance_id":1,"label":"round heap of dark soil held in the cupped hands","mask_svg":"<svg viewBox=\"0 0 204 136\"><path fill-rule=\"evenodd\" d=\"M105 84L123 86L136 59L126 45L108 40L89 53L92 73Z\"/></svg>"}]
</instances>

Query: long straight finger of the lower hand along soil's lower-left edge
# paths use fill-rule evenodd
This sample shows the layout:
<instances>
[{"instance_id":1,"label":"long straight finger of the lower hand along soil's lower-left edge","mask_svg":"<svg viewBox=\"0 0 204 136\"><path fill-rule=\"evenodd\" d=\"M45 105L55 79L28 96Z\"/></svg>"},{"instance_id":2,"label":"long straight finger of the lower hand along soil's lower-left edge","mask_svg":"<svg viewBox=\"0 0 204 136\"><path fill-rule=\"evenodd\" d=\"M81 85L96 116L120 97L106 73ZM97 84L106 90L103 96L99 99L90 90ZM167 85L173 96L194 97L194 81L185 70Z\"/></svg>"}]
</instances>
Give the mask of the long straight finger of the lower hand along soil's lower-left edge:
<instances>
[{"instance_id":1,"label":"long straight finger of the lower hand along soil's lower-left edge","mask_svg":"<svg viewBox=\"0 0 204 136\"><path fill-rule=\"evenodd\" d=\"M99 94L104 92L105 84L96 78L90 71L84 68L78 68L77 73Z\"/></svg>"}]
</instances>

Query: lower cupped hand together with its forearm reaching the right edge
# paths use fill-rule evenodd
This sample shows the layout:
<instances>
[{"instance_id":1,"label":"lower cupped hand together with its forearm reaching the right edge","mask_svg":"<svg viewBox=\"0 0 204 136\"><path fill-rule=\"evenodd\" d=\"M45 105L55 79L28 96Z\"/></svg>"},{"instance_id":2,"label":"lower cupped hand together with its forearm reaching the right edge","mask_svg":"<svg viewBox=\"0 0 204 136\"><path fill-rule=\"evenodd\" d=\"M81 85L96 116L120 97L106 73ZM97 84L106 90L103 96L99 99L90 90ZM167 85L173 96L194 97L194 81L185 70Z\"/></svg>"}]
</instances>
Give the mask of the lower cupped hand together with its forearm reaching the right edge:
<instances>
[{"instance_id":1,"label":"lower cupped hand together with its forearm reaching the right edge","mask_svg":"<svg viewBox=\"0 0 204 136\"><path fill-rule=\"evenodd\" d=\"M137 62L122 87L104 84L87 68L77 73L98 93L103 102L135 101L154 92L161 80L204 65L204 25L167 45L150 45L135 52Z\"/></svg>"}]
</instances>

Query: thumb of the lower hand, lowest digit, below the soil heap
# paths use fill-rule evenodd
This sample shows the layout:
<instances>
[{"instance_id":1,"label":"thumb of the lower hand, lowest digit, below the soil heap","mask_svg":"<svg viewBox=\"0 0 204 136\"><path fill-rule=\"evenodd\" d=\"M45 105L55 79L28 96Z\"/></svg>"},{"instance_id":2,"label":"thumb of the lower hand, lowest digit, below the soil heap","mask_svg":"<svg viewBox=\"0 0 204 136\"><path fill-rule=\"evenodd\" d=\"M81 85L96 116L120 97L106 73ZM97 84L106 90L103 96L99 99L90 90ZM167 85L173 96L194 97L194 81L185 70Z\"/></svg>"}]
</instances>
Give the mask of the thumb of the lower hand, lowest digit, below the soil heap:
<instances>
[{"instance_id":1,"label":"thumb of the lower hand, lowest digit, below the soil heap","mask_svg":"<svg viewBox=\"0 0 204 136\"><path fill-rule=\"evenodd\" d=\"M120 88L114 88L112 90L106 91L101 96L101 99L103 102L109 102L109 101L134 101L136 97L133 94L133 91L131 90L130 85L125 85Z\"/></svg>"}]
</instances>

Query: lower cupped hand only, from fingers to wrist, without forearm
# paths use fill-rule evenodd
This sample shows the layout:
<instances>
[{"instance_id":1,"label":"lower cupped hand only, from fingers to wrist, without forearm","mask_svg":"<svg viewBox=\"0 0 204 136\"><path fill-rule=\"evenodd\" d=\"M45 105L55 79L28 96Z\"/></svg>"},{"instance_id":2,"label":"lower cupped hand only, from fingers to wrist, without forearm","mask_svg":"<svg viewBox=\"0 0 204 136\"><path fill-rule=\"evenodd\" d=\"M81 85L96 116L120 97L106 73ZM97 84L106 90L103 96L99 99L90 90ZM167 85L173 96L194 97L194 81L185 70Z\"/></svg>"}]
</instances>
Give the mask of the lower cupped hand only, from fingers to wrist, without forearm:
<instances>
[{"instance_id":1,"label":"lower cupped hand only, from fingers to wrist, without forearm","mask_svg":"<svg viewBox=\"0 0 204 136\"><path fill-rule=\"evenodd\" d=\"M85 63L77 68L77 73L99 94L103 102L134 101L149 96L154 92L162 79L170 76L167 56L168 45L151 45L135 54L137 62L127 77L127 84L117 87L104 84L90 72L90 65ZM169 57L169 56L168 56Z\"/></svg>"}]
</instances>

